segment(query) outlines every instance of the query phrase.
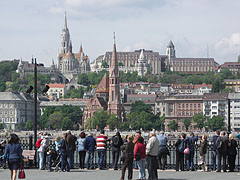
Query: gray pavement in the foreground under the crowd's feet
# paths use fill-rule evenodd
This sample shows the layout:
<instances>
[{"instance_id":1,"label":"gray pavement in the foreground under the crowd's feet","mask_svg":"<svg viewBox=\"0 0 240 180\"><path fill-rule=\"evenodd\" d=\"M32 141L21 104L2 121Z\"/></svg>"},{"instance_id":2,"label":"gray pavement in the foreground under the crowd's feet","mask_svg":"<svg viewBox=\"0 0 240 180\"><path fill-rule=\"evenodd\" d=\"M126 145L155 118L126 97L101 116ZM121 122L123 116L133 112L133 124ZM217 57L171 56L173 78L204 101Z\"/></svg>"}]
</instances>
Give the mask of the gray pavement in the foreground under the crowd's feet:
<instances>
[{"instance_id":1,"label":"gray pavement in the foreground under the crowd's feet","mask_svg":"<svg viewBox=\"0 0 240 180\"><path fill-rule=\"evenodd\" d=\"M121 171L113 170L77 170L72 172L48 172L36 169L25 170L28 180L119 180ZM126 177L127 178L127 171ZM133 179L138 178L138 171L134 171ZM10 171L0 169L0 180L9 180ZM216 172L175 172L158 171L159 180L235 180L240 179L238 172L216 173Z\"/></svg>"}]
</instances>

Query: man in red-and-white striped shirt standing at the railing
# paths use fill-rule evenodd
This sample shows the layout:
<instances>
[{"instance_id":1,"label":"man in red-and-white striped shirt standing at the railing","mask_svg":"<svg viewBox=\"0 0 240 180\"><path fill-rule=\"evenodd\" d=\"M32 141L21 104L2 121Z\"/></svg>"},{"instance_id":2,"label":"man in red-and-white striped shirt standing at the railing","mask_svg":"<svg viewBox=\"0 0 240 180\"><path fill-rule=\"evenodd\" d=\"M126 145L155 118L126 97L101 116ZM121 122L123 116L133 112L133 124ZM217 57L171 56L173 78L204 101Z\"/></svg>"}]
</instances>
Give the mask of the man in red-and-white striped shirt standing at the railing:
<instances>
[{"instance_id":1,"label":"man in red-and-white striped shirt standing at the railing","mask_svg":"<svg viewBox=\"0 0 240 180\"><path fill-rule=\"evenodd\" d=\"M97 153L98 153L98 168L103 170L103 161L106 154L106 145L108 137L104 135L104 130L101 130L100 134L97 136Z\"/></svg>"}]
</instances>

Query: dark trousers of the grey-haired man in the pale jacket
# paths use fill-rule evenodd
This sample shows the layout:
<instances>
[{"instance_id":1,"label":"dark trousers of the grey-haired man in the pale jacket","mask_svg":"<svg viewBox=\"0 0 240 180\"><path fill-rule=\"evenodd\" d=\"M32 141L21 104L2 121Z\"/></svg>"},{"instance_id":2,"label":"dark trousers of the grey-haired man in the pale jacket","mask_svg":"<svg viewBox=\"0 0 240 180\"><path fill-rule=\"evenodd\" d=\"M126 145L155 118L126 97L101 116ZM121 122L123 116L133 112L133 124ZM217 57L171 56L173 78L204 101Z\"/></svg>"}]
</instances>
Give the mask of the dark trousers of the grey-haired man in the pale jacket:
<instances>
[{"instance_id":1,"label":"dark trousers of the grey-haired man in the pale jacket","mask_svg":"<svg viewBox=\"0 0 240 180\"><path fill-rule=\"evenodd\" d=\"M149 180L158 180L157 168L158 168L157 156L147 155L147 169Z\"/></svg>"}]
</instances>

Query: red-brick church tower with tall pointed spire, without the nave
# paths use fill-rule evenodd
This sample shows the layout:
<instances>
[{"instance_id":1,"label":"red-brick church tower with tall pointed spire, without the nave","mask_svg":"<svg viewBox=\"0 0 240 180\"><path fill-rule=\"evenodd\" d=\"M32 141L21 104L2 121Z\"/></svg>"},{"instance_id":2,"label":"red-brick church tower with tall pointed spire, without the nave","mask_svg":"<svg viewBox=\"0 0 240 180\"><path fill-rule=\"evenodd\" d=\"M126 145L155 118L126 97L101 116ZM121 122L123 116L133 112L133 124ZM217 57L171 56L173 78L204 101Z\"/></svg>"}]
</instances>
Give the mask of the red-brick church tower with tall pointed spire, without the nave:
<instances>
[{"instance_id":1,"label":"red-brick church tower with tall pointed spire, without the nave","mask_svg":"<svg viewBox=\"0 0 240 180\"><path fill-rule=\"evenodd\" d=\"M119 79L115 36L114 36L112 59L111 59L110 70L109 70L108 111L111 114L116 114L119 118L121 118L120 79Z\"/></svg>"}]
</instances>

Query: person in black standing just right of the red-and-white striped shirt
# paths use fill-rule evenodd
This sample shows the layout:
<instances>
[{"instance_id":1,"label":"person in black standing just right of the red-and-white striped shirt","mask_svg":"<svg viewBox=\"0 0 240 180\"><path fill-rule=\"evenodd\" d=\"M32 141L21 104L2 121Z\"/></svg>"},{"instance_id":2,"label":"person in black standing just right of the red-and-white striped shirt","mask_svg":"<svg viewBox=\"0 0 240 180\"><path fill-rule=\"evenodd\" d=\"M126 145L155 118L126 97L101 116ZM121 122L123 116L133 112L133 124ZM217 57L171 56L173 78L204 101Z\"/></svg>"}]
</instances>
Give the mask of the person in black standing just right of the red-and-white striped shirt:
<instances>
[{"instance_id":1,"label":"person in black standing just right of the red-and-white striped shirt","mask_svg":"<svg viewBox=\"0 0 240 180\"><path fill-rule=\"evenodd\" d=\"M120 132L116 132L116 135L112 137L112 161L113 169L118 170L118 160L120 155L120 147L123 145L123 140Z\"/></svg>"}]
</instances>

